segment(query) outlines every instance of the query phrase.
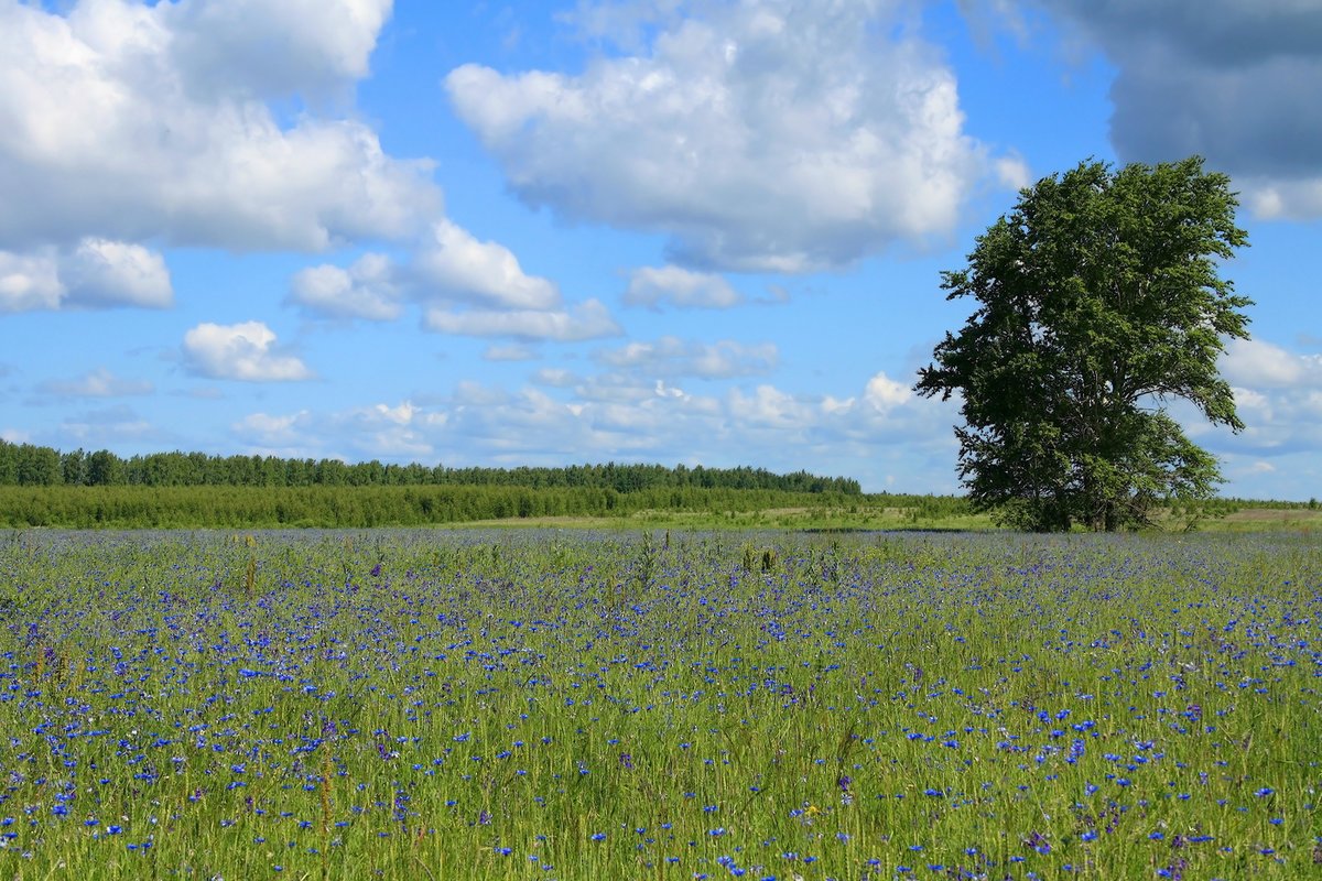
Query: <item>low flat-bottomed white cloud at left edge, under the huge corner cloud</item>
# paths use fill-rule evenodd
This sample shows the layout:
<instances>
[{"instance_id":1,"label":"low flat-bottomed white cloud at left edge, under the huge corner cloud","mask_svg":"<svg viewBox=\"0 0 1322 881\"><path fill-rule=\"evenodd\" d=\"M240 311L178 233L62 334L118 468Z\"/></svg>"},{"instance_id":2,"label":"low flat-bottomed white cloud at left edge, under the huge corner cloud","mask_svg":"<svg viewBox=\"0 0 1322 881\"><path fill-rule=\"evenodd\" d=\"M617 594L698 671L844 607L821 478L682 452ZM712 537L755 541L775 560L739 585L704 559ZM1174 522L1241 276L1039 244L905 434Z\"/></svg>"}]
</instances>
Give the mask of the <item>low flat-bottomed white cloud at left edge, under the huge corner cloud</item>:
<instances>
[{"instance_id":1,"label":"low flat-bottomed white cloud at left edge, under the huge corner cloud","mask_svg":"<svg viewBox=\"0 0 1322 881\"><path fill-rule=\"evenodd\" d=\"M173 299L165 260L140 244L86 238L73 247L0 250L0 312L163 309Z\"/></svg>"}]
</instances>

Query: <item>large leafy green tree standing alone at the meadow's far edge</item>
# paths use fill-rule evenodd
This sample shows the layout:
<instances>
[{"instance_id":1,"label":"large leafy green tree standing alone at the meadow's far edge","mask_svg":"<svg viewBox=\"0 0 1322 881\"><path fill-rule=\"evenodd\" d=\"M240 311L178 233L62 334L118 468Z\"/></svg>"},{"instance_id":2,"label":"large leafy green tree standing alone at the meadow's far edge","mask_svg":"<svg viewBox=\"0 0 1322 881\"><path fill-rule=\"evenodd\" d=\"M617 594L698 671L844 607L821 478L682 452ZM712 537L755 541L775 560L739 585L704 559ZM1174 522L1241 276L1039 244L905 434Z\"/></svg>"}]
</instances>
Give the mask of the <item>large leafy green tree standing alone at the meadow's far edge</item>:
<instances>
[{"instance_id":1,"label":"large leafy green tree standing alone at the meadow's far edge","mask_svg":"<svg viewBox=\"0 0 1322 881\"><path fill-rule=\"evenodd\" d=\"M962 400L960 477L981 509L1030 530L1117 530L1212 494L1216 460L1166 405L1240 431L1216 358L1248 335L1220 277L1247 244L1224 174L1202 159L1113 170L1087 161L1019 193L943 273L977 309L936 346L916 391Z\"/></svg>"}]
</instances>

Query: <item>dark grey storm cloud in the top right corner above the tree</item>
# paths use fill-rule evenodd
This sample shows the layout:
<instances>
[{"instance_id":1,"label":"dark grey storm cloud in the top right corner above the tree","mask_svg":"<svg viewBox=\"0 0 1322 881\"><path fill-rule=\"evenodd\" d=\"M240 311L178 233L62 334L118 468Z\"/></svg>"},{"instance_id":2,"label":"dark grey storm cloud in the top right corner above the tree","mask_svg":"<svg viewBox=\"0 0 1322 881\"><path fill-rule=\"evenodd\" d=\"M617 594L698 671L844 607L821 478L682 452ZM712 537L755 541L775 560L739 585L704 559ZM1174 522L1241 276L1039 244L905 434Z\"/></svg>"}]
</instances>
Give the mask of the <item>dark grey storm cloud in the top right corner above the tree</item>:
<instances>
[{"instance_id":1,"label":"dark grey storm cloud in the top right corner above the tree","mask_svg":"<svg viewBox=\"0 0 1322 881\"><path fill-rule=\"evenodd\" d=\"M1038 0L1117 66L1125 161L1198 153L1265 217L1322 217L1322 5L1300 0ZM1301 88L1303 92L1301 92Z\"/></svg>"}]
</instances>

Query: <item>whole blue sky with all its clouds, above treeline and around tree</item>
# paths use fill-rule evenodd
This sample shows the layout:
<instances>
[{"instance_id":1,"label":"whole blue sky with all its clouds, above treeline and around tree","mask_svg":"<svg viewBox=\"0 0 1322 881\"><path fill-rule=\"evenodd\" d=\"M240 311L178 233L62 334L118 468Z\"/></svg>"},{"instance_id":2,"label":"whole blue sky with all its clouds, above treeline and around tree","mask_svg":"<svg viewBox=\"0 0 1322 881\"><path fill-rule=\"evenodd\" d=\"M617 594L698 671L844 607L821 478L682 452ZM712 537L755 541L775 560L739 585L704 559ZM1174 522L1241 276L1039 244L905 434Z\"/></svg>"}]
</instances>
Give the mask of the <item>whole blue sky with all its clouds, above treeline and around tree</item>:
<instances>
[{"instance_id":1,"label":"whole blue sky with all its clouds, above treeline and around tree","mask_svg":"<svg viewBox=\"0 0 1322 881\"><path fill-rule=\"evenodd\" d=\"M0 0L0 437L956 493L1019 188L1206 157L1223 494L1322 497L1319 0Z\"/></svg>"}]
</instances>

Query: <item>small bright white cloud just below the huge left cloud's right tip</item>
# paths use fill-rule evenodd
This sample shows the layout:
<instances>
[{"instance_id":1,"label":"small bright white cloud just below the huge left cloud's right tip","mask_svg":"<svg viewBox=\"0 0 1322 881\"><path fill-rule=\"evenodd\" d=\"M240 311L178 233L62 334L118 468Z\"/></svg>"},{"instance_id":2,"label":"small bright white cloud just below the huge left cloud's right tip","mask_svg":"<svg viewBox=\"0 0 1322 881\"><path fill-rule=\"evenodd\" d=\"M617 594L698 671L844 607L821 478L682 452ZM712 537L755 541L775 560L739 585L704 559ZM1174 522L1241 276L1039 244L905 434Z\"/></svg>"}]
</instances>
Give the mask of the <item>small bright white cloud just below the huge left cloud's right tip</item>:
<instances>
[{"instance_id":1,"label":"small bright white cloud just below the huge left cloud's right tip","mask_svg":"<svg viewBox=\"0 0 1322 881\"><path fill-rule=\"evenodd\" d=\"M420 296L459 300L484 308L554 309L561 292L546 279L529 276L502 244L479 242L467 230L440 221L412 260Z\"/></svg>"}]
</instances>

